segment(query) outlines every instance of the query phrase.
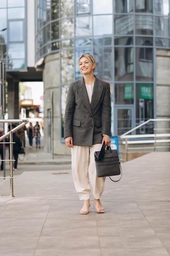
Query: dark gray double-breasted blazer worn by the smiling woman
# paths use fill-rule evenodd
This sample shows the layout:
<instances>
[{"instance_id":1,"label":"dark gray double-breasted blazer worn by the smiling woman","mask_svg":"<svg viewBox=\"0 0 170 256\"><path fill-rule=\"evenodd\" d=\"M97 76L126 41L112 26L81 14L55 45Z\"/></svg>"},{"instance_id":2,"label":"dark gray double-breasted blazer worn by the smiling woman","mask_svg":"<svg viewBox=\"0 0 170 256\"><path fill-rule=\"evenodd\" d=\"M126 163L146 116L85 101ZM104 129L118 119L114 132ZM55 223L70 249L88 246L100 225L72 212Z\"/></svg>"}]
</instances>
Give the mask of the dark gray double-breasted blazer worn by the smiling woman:
<instances>
[{"instance_id":1,"label":"dark gray double-breasted blazer worn by the smiling woman","mask_svg":"<svg viewBox=\"0 0 170 256\"><path fill-rule=\"evenodd\" d=\"M66 99L64 138L73 137L73 145L91 146L110 136L110 84L95 76L91 104L84 78L71 83Z\"/></svg>"}]
</instances>

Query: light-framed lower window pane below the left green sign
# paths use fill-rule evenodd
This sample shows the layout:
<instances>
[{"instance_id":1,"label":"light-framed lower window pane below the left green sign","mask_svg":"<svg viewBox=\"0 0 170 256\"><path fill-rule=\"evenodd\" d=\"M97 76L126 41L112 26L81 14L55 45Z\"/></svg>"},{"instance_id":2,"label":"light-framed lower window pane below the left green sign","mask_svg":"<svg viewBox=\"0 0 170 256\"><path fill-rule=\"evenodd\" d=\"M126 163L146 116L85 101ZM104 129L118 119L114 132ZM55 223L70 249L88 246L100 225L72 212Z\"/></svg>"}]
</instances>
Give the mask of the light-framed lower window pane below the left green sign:
<instances>
[{"instance_id":1,"label":"light-framed lower window pane below the left green sign","mask_svg":"<svg viewBox=\"0 0 170 256\"><path fill-rule=\"evenodd\" d=\"M117 135L120 136L132 129L132 110L118 109L117 117Z\"/></svg>"}]
</instances>

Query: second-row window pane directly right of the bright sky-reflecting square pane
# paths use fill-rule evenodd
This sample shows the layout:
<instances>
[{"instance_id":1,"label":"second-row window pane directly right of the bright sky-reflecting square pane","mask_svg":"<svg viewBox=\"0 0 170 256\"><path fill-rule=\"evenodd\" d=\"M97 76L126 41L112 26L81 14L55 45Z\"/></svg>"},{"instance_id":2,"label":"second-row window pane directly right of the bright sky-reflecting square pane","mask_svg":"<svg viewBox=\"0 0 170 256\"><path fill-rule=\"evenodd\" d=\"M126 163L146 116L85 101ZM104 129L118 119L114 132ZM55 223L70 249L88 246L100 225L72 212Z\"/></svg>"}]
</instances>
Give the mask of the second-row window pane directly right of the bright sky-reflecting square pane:
<instances>
[{"instance_id":1,"label":"second-row window pane directly right of the bright sky-reflecting square pane","mask_svg":"<svg viewBox=\"0 0 170 256\"><path fill-rule=\"evenodd\" d=\"M133 34L133 16L115 15L115 34Z\"/></svg>"}]
</instances>

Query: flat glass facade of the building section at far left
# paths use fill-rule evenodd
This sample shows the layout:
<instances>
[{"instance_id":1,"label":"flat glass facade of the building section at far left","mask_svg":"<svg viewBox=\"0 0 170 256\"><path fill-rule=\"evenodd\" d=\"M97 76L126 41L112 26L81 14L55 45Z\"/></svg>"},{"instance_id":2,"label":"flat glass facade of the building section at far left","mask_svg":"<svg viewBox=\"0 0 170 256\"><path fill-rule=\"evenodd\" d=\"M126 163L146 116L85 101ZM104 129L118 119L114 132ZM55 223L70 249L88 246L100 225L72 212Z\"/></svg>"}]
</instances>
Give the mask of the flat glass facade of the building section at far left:
<instances>
[{"instance_id":1,"label":"flat glass facade of the building section at far left","mask_svg":"<svg viewBox=\"0 0 170 256\"><path fill-rule=\"evenodd\" d=\"M26 0L0 1L0 60L6 70L26 70Z\"/></svg>"}]
</instances>

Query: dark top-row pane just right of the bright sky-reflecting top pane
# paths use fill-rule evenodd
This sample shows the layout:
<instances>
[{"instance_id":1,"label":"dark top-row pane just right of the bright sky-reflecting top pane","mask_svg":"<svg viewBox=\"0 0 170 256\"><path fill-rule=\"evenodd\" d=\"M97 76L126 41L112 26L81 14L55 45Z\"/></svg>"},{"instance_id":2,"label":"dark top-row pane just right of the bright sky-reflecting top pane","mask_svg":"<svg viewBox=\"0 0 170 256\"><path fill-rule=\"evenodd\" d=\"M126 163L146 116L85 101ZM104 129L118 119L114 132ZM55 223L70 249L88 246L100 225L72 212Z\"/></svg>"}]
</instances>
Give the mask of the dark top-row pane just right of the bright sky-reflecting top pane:
<instances>
[{"instance_id":1,"label":"dark top-row pane just right of the bright sky-reflecting top pane","mask_svg":"<svg viewBox=\"0 0 170 256\"><path fill-rule=\"evenodd\" d=\"M128 13L133 11L133 0L115 0L116 13Z\"/></svg>"}]
</instances>

